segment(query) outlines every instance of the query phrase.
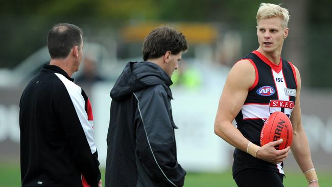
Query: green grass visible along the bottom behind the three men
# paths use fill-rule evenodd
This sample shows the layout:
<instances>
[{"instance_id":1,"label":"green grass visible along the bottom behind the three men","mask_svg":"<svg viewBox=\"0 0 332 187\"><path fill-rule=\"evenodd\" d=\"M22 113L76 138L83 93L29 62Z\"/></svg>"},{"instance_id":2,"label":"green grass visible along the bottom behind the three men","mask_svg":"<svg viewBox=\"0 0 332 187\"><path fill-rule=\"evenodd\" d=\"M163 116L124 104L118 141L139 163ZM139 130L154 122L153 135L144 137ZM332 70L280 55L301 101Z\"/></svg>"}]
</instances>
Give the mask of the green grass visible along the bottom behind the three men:
<instances>
[{"instance_id":1,"label":"green grass visible along the bottom behind the three men","mask_svg":"<svg viewBox=\"0 0 332 187\"><path fill-rule=\"evenodd\" d=\"M102 171L102 176L105 176ZM305 179L301 173L287 172L284 178L285 187L305 187ZM332 172L319 173L320 186L332 186ZM20 186L19 165L14 163L0 163L0 186L17 187ZM188 173L185 179L186 187L217 187L236 186L232 179L231 172L225 173Z\"/></svg>"}]
</instances>

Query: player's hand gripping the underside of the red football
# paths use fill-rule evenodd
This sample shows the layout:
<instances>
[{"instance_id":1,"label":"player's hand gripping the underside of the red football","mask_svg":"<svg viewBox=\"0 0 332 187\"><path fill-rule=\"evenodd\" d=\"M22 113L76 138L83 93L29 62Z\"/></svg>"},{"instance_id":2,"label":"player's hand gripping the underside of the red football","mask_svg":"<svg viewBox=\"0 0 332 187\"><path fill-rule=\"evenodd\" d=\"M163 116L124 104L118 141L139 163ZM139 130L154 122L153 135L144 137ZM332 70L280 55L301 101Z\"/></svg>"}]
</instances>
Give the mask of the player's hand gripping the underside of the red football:
<instances>
[{"instance_id":1,"label":"player's hand gripping the underside of the red football","mask_svg":"<svg viewBox=\"0 0 332 187\"><path fill-rule=\"evenodd\" d=\"M262 147L256 153L256 157L271 163L280 163L285 160L290 152L290 147L282 150L276 150L274 146L281 144L283 139L270 142Z\"/></svg>"}]
</instances>

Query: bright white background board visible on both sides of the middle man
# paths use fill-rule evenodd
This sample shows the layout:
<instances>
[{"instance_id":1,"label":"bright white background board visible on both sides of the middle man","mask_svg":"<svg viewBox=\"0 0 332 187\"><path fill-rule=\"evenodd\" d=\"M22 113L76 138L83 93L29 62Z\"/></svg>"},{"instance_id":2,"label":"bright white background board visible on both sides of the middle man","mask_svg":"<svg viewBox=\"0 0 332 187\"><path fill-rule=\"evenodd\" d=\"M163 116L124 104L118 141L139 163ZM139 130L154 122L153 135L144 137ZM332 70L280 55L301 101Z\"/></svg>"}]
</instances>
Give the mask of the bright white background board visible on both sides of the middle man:
<instances>
[{"instance_id":1,"label":"bright white background board visible on both sides of the middle man","mask_svg":"<svg viewBox=\"0 0 332 187\"><path fill-rule=\"evenodd\" d=\"M106 137L109 124L111 86L96 84L91 92L93 103L94 139L99 160L106 164ZM214 121L218 108L219 93L173 89L172 111L178 162L189 171L219 172L227 169L231 147L214 133Z\"/></svg>"}]
</instances>

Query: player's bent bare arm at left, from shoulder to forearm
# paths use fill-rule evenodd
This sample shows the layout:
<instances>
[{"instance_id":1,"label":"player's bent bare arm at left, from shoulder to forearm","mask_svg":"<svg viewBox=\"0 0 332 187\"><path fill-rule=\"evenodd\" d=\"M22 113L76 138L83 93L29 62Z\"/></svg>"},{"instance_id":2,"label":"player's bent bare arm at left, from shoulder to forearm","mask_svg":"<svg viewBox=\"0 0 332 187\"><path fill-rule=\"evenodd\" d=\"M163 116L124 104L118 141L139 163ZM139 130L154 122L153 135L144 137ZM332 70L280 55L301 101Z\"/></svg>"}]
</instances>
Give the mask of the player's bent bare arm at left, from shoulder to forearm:
<instances>
[{"instance_id":1,"label":"player's bent bare arm at left, from shoulder to forearm","mask_svg":"<svg viewBox=\"0 0 332 187\"><path fill-rule=\"evenodd\" d=\"M246 79L247 81L245 81ZM248 89L254 80L255 69L249 61L240 61L233 66L219 100L215 120L215 133L230 145L245 152L249 141L232 125L232 121L244 104L248 95Z\"/></svg>"}]
</instances>

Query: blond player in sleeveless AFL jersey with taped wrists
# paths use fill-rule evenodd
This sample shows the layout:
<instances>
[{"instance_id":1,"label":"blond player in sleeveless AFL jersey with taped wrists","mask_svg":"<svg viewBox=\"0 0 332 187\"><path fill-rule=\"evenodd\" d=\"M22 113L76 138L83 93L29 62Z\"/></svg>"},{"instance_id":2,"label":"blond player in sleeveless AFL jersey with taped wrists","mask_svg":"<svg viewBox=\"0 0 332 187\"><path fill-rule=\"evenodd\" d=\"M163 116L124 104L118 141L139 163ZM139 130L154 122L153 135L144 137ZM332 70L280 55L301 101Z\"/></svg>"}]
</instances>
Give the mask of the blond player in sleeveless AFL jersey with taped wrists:
<instances>
[{"instance_id":1,"label":"blond player in sleeveless AFL jersey with taped wrists","mask_svg":"<svg viewBox=\"0 0 332 187\"><path fill-rule=\"evenodd\" d=\"M290 150L309 186L319 186L301 122L300 74L281 58L289 17L288 10L279 5L260 4L256 16L259 47L235 63L220 97L215 133L235 147L233 178L238 186L283 186L283 161ZM288 105L270 105L271 101ZM292 148L276 150L274 146L282 139L260 147L264 120L275 111L287 114L292 122Z\"/></svg>"}]
</instances>

